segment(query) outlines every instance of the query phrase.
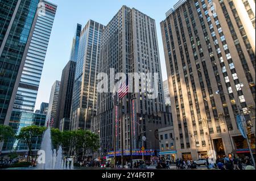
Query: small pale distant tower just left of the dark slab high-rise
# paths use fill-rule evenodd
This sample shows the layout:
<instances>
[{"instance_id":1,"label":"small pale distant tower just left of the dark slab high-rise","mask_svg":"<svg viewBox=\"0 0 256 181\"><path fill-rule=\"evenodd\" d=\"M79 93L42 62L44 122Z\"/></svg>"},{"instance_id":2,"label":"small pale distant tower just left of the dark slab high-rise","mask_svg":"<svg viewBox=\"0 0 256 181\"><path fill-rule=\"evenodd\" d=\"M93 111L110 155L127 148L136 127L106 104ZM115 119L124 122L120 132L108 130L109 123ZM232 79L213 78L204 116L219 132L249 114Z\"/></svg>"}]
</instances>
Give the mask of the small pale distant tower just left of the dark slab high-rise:
<instances>
[{"instance_id":1,"label":"small pale distant tower just left of the dark slab high-rise","mask_svg":"<svg viewBox=\"0 0 256 181\"><path fill-rule=\"evenodd\" d=\"M57 112L57 103L59 99L59 91L60 91L60 81L55 81L52 85L51 95L49 98L49 107L47 111L46 116L46 126L50 126L52 124L52 127L54 127L54 124L56 123L56 112ZM54 124L52 123L52 120L54 121Z\"/></svg>"}]
</instances>

